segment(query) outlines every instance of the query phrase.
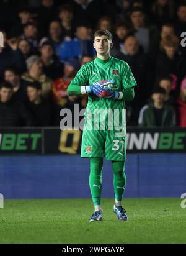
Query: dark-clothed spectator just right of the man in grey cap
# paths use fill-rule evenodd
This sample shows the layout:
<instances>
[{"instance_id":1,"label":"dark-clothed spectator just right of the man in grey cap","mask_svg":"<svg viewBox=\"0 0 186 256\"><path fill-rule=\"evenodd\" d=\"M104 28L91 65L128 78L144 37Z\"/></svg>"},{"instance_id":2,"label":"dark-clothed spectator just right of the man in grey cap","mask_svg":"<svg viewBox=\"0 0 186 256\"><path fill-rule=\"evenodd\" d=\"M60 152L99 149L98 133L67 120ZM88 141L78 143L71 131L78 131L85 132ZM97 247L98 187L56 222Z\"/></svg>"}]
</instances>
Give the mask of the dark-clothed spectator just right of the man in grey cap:
<instances>
[{"instance_id":1,"label":"dark-clothed spectator just right of the man in grey cap","mask_svg":"<svg viewBox=\"0 0 186 256\"><path fill-rule=\"evenodd\" d=\"M40 47L40 53L43 64L43 73L52 80L63 76L63 64L60 63L55 56L53 45L51 45L50 42L45 41L43 43Z\"/></svg>"}]
</instances>

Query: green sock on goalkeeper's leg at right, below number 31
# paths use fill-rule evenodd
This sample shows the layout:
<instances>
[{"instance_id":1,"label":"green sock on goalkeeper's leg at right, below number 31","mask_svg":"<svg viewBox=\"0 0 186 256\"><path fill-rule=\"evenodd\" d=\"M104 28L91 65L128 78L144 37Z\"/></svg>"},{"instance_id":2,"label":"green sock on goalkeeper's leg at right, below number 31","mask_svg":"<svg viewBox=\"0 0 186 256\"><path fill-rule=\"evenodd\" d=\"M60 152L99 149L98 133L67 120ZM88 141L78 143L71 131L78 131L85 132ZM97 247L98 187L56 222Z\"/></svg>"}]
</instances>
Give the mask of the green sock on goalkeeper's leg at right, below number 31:
<instances>
[{"instance_id":1,"label":"green sock on goalkeeper's leg at right, below number 31","mask_svg":"<svg viewBox=\"0 0 186 256\"><path fill-rule=\"evenodd\" d=\"M115 193L115 199L122 201L123 193L126 185L125 175L125 162L124 161L112 161L113 170L113 188Z\"/></svg>"}]
</instances>

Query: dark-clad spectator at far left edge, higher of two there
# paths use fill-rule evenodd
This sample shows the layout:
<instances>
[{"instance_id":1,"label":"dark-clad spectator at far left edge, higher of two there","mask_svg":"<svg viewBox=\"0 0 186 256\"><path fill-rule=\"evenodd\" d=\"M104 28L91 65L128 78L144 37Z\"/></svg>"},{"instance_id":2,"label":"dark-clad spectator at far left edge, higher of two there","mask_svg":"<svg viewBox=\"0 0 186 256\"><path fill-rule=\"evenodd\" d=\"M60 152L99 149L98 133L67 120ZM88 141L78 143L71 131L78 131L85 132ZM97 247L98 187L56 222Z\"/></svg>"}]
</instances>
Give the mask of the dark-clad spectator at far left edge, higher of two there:
<instances>
[{"instance_id":1,"label":"dark-clad spectator at far left edge, higher of two there","mask_svg":"<svg viewBox=\"0 0 186 256\"><path fill-rule=\"evenodd\" d=\"M17 66L20 71L26 70L24 56L18 48L18 41L7 40L4 33L4 47L0 47L0 80L4 80L4 70L9 65Z\"/></svg>"}]
</instances>

